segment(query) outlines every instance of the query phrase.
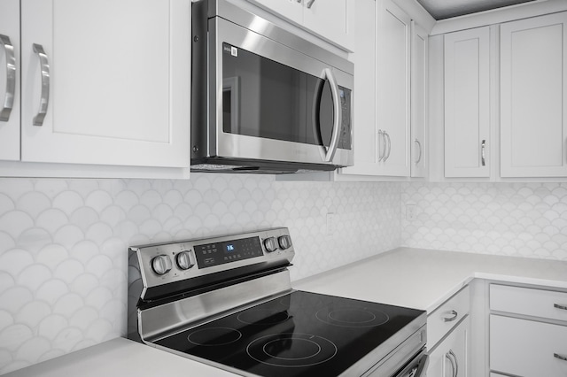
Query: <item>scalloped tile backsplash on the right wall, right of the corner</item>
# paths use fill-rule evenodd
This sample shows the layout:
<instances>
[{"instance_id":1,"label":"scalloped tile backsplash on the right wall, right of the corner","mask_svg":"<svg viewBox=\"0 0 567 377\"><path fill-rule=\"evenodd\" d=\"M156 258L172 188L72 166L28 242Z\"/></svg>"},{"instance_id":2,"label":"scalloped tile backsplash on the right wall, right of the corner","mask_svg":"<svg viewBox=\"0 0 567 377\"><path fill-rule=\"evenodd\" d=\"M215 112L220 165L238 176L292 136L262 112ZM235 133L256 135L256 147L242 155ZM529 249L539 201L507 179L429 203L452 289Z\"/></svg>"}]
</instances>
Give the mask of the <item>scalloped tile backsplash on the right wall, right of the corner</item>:
<instances>
[{"instance_id":1,"label":"scalloped tile backsplash on the right wall, right of the corner","mask_svg":"<svg viewBox=\"0 0 567 377\"><path fill-rule=\"evenodd\" d=\"M567 183L404 183L401 204L404 246L567 261Z\"/></svg>"}]
</instances>

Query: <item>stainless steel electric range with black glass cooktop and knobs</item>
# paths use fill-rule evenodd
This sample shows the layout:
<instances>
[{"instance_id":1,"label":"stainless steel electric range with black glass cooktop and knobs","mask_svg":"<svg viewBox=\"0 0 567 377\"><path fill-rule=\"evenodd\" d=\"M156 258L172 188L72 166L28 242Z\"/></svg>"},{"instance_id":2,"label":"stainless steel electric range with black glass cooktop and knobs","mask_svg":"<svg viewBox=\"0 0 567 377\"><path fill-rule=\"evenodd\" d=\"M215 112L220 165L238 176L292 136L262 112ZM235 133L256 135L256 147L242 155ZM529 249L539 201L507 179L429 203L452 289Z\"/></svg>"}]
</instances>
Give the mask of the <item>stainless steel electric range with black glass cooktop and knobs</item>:
<instances>
[{"instance_id":1,"label":"stainless steel electric range with black glass cooktop and knobs","mask_svg":"<svg viewBox=\"0 0 567 377\"><path fill-rule=\"evenodd\" d=\"M287 228L129 251L130 339L244 376L425 373L425 312L291 289Z\"/></svg>"}]
</instances>

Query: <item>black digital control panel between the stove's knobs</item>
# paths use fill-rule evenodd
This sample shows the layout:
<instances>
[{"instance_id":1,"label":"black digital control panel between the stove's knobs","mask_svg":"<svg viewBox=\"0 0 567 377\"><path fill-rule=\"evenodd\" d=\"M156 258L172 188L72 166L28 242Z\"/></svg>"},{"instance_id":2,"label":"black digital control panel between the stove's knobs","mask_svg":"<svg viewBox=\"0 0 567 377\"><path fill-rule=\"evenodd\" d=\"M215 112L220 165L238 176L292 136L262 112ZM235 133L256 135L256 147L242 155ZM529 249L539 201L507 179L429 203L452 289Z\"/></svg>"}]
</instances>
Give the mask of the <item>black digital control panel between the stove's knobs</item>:
<instances>
[{"instance_id":1,"label":"black digital control panel between the stove's knobs","mask_svg":"<svg viewBox=\"0 0 567 377\"><path fill-rule=\"evenodd\" d=\"M243 238L226 242L206 243L195 246L198 268L223 265L238 260L264 255L259 237Z\"/></svg>"}]
</instances>

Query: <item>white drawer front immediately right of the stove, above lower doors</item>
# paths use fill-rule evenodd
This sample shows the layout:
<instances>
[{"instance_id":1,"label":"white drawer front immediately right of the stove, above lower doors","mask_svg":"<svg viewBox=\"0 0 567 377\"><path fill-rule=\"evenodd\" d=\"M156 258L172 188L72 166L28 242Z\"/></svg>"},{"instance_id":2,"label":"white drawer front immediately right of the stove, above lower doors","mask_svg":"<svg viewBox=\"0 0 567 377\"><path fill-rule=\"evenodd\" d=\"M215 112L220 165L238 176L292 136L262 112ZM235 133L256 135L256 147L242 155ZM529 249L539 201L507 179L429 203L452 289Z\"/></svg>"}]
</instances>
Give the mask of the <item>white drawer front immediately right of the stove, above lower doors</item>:
<instances>
[{"instance_id":1,"label":"white drawer front immediately right of the stove, above lower doors","mask_svg":"<svg viewBox=\"0 0 567 377\"><path fill-rule=\"evenodd\" d=\"M469 313L469 286L461 289L427 317L427 346L431 349Z\"/></svg>"}]
</instances>

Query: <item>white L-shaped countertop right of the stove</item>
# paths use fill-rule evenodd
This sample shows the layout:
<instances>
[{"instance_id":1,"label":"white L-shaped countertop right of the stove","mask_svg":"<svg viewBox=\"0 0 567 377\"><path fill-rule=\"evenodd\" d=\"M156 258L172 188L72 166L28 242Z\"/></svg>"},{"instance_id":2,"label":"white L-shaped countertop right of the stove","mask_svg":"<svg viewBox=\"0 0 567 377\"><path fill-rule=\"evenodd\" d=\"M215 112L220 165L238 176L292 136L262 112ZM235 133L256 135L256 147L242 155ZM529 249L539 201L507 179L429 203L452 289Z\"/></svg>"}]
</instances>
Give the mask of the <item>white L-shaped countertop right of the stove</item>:
<instances>
[{"instance_id":1,"label":"white L-shaped countertop right of the stove","mask_svg":"<svg viewBox=\"0 0 567 377\"><path fill-rule=\"evenodd\" d=\"M432 312L474 278L567 289L567 262L398 248L292 286Z\"/></svg>"}]
</instances>

